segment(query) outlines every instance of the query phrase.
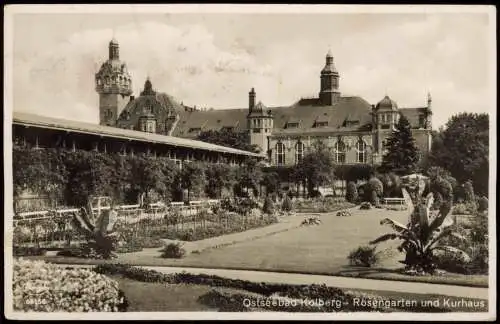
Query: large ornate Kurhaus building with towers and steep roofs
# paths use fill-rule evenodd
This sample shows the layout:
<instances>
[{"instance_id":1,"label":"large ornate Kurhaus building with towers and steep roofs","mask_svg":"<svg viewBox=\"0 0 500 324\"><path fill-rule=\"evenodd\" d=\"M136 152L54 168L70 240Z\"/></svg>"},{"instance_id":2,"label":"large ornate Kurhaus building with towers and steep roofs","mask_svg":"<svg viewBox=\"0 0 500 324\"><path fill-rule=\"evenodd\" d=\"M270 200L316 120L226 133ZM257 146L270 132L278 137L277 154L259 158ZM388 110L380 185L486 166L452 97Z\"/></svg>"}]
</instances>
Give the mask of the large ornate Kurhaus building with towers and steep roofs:
<instances>
[{"instance_id":1,"label":"large ornate Kurhaus building with towers and steep roofs","mask_svg":"<svg viewBox=\"0 0 500 324\"><path fill-rule=\"evenodd\" d=\"M248 107L198 110L157 92L148 79L138 97L132 96L131 77L119 58L119 45L109 43L109 59L96 74L102 125L196 138L208 130L249 132L251 144L266 154L271 165L294 165L315 141L323 141L339 164L378 164L384 141L404 115L423 155L430 151L431 97L422 107L401 108L385 96L370 104L358 96L342 96L340 74L328 52L320 73L317 98L300 99L290 106L266 107L257 101L255 89Z\"/></svg>"}]
</instances>

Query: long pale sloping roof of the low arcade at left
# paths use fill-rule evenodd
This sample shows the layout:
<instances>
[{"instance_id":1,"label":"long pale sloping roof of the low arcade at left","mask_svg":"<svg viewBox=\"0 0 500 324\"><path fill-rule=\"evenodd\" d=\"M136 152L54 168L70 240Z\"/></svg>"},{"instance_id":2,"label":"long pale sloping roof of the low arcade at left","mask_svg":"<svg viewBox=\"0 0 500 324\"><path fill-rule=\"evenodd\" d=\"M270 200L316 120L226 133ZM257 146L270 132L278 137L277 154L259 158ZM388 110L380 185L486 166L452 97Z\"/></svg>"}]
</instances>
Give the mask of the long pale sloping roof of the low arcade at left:
<instances>
[{"instance_id":1,"label":"long pale sloping roof of the low arcade at left","mask_svg":"<svg viewBox=\"0 0 500 324\"><path fill-rule=\"evenodd\" d=\"M205 143L201 141L194 141L186 138L179 138L179 137L166 136L166 135L147 133L147 132L139 132L129 129L102 126L102 125L84 123L74 120L40 116L29 113L14 112L12 123L18 125L26 125L26 126L37 126L40 128L74 131L84 134L132 139L138 141L145 141L149 143L159 143L159 144L166 144L178 147L208 150L214 152L231 153L236 155L254 156L260 158L264 157L261 154L238 150L231 147Z\"/></svg>"}]
</instances>

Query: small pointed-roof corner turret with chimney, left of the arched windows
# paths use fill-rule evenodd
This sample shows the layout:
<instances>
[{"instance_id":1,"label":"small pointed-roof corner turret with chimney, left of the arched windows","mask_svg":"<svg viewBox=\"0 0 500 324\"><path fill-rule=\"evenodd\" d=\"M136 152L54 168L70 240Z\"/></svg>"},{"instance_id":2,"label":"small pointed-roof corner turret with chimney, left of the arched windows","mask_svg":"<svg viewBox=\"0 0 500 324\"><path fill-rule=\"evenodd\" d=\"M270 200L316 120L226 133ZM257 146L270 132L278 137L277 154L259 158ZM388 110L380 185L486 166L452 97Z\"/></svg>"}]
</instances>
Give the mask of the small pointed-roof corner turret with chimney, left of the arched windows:
<instances>
[{"instance_id":1,"label":"small pointed-roof corner turret with chimney, left of the arched windows","mask_svg":"<svg viewBox=\"0 0 500 324\"><path fill-rule=\"evenodd\" d=\"M250 133L250 144L257 145L261 153L269 150L268 138L273 131L273 116L262 102L255 104L255 90L248 93L247 126Z\"/></svg>"}]
</instances>

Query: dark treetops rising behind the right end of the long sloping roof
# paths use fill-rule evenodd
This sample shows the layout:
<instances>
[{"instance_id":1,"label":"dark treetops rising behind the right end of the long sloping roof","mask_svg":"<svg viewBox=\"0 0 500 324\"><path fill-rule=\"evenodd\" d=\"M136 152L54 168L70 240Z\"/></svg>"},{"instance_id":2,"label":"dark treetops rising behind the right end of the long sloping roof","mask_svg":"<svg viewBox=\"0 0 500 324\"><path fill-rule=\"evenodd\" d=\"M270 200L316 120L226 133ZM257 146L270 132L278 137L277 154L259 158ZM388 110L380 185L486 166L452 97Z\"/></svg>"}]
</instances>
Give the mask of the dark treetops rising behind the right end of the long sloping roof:
<instances>
[{"instance_id":1,"label":"dark treetops rising behind the right end of the long sloping roof","mask_svg":"<svg viewBox=\"0 0 500 324\"><path fill-rule=\"evenodd\" d=\"M199 141L232 147L244 151L259 153L257 145L250 144L250 135L247 132L235 132L232 130L208 130L201 132L196 138Z\"/></svg>"}]
</instances>

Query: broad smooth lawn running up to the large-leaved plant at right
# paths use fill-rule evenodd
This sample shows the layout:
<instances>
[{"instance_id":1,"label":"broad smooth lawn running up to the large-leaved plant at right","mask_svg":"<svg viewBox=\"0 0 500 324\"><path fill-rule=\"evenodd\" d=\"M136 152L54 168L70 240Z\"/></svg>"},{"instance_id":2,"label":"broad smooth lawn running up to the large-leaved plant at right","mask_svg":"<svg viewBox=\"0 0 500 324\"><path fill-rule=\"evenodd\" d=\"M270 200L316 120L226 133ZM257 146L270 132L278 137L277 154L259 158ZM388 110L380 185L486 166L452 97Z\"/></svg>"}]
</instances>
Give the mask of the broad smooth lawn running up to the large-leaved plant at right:
<instances>
[{"instance_id":1,"label":"broad smooth lawn running up to the large-leaved plant at right","mask_svg":"<svg viewBox=\"0 0 500 324\"><path fill-rule=\"evenodd\" d=\"M259 239L248 239L201 253L191 253L183 259L162 259L160 252L154 249L151 253L131 253L112 261L42 258L58 263L96 264L118 261L132 265L262 270L488 287L486 275L418 277L398 273L397 269L402 266L398 261L403 259L403 255L395 249L398 242L387 242L379 246L378 250L387 249L393 255L382 260L376 269L348 267L349 252L390 232L389 227L380 225L381 219L390 217L405 223L407 214L405 211L384 209L357 209L349 217L337 217L335 214L336 212L321 214L322 224L318 226L302 226Z\"/></svg>"}]
</instances>

